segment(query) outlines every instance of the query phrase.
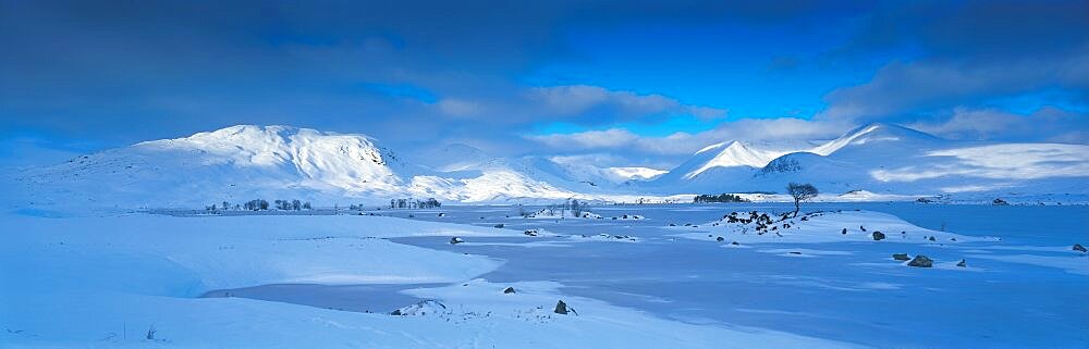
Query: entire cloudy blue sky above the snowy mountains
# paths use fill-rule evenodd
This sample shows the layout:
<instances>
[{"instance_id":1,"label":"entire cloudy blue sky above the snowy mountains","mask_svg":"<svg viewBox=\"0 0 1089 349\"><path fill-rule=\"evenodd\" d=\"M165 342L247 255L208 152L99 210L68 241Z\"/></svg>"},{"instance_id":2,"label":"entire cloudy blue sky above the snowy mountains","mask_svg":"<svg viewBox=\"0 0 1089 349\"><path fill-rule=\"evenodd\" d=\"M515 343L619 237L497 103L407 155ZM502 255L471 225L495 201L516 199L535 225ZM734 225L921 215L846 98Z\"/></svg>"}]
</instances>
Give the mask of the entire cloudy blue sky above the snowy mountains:
<instances>
[{"instance_id":1,"label":"entire cloudy blue sky above the snowy mountains","mask_svg":"<svg viewBox=\"0 0 1089 349\"><path fill-rule=\"evenodd\" d=\"M234 124L658 167L868 122L1089 141L1087 1L0 1L0 45L20 165Z\"/></svg>"}]
</instances>

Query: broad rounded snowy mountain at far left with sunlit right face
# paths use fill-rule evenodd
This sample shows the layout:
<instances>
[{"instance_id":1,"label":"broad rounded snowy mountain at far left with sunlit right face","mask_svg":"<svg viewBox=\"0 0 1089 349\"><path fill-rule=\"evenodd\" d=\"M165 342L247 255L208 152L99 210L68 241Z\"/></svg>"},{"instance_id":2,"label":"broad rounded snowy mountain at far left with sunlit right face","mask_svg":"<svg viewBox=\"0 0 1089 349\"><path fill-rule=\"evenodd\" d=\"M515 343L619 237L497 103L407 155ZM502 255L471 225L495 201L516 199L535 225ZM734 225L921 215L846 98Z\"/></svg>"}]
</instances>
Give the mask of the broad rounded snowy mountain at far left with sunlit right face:
<instances>
[{"instance_id":1,"label":"broad rounded snowy mountain at far left with sunlit right face","mask_svg":"<svg viewBox=\"0 0 1089 349\"><path fill-rule=\"evenodd\" d=\"M241 125L32 169L14 191L35 204L194 207L388 196L420 171L367 136Z\"/></svg>"}]
</instances>

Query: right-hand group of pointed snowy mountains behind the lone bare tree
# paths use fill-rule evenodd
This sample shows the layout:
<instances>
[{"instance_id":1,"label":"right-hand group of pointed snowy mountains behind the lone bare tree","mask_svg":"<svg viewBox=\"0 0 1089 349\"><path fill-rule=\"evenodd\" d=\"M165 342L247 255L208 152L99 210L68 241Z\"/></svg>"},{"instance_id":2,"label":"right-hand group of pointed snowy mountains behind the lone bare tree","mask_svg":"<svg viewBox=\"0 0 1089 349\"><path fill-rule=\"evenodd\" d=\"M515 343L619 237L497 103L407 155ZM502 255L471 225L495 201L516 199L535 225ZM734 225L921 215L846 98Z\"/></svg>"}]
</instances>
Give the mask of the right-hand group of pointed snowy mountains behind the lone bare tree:
<instances>
[{"instance_id":1,"label":"right-hand group of pointed snowy mountains behind the lone bare tree","mask_svg":"<svg viewBox=\"0 0 1089 349\"><path fill-rule=\"evenodd\" d=\"M827 192L1086 194L1089 146L952 141L874 123L815 147L705 148L647 186L657 192L780 192L808 182Z\"/></svg>"}]
</instances>

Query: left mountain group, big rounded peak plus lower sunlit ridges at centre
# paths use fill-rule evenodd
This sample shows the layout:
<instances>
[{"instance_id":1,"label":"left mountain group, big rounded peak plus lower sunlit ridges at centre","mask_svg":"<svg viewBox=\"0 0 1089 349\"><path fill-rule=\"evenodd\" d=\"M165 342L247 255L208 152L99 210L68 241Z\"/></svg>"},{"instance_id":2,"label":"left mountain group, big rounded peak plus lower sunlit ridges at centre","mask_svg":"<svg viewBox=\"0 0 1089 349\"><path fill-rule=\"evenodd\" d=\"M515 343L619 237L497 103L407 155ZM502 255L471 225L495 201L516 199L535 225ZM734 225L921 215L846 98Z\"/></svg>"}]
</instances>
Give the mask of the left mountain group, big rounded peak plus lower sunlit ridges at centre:
<instances>
[{"instance_id":1,"label":"left mountain group, big rounded peak plus lower sunlit ridges at centre","mask_svg":"<svg viewBox=\"0 0 1089 349\"><path fill-rule=\"evenodd\" d=\"M412 163L365 135L240 125L22 171L5 191L24 204L192 208L255 198L326 204L597 198L614 187L544 158L490 158L464 145L441 149L437 159L431 166Z\"/></svg>"}]
</instances>

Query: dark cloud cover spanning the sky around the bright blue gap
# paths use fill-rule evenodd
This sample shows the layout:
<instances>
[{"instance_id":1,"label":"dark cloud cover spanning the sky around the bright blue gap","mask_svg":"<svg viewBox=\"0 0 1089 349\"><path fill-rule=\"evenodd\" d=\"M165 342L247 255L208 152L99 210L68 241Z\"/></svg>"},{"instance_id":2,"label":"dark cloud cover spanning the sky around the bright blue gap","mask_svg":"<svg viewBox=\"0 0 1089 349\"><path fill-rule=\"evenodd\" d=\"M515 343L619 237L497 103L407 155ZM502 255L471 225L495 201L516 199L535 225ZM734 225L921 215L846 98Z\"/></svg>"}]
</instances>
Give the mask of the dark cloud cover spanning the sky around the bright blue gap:
<instances>
[{"instance_id":1,"label":"dark cloud cover spanning the sky around the bright blue gap","mask_svg":"<svg viewBox=\"0 0 1089 349\"><path fill-rule=\"evenodd\" d=\"M570 153L578 149L542 150L523 136L549 122L607 129L619 122L726 115L684 96L577 77L561 86L523 80L541 66L584 59L570 46L572 35L730 23L752 33L752 42L774 43L779 38L760 36L764 29L800 22L853 23L825 60L884 67L870 82L829 86L834 91L824 97L822 115L830 121L767 125L811 136L848 121L926 116L940 123L956 108L990 110L995 99L1040 91L1057 90L1063 99L1048 102L1082 103L1089 96L1086 3L0 1L0 128L105 147L233 124L291 124L366 133L406 151L460 141L500 153ZM662 38L632 42L654 39ZM797 74L819 53L763 60L771 71ZM648 66L694 68L653 63ZM612 136L640 145L627 148L643 152L632 158L749 136L719 129L666 142Z\"/></svg>"}]
</instances>

